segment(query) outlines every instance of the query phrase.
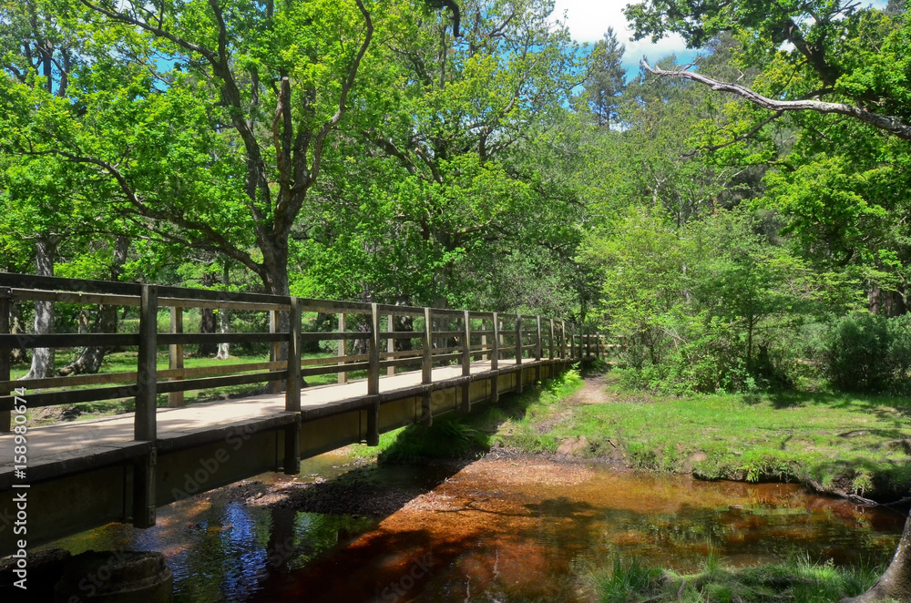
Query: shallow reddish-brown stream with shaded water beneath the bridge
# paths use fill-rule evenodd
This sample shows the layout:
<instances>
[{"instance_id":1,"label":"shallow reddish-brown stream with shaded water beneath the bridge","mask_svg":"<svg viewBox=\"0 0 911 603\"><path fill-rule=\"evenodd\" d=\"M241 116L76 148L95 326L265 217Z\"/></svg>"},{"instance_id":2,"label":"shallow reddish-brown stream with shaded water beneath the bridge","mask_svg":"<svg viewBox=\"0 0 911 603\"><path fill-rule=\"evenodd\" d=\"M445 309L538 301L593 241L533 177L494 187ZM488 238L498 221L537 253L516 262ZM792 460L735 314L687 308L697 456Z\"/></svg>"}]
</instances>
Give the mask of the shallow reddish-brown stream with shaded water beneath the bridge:
<instances>
[{"instance_id":1,"label":"shallow reddish-brown stream with shaded water beneath the bridge","mask_svg":"<svg viewBox=\"0 0 911 603\"><path fill-rule=\"evenodd\" d=\"M904 525L895 512L799 485L521 455L348 464L322 455L294 478L261 475L159 509L148 530L111 524L52 547L161 551L178 602L585 601L590 571L617 555L681 571L698 570L710 552L733 566L794 552L880 562ZM352 470L357 480L342 475Z\"/></svg>"}]
</instances>

